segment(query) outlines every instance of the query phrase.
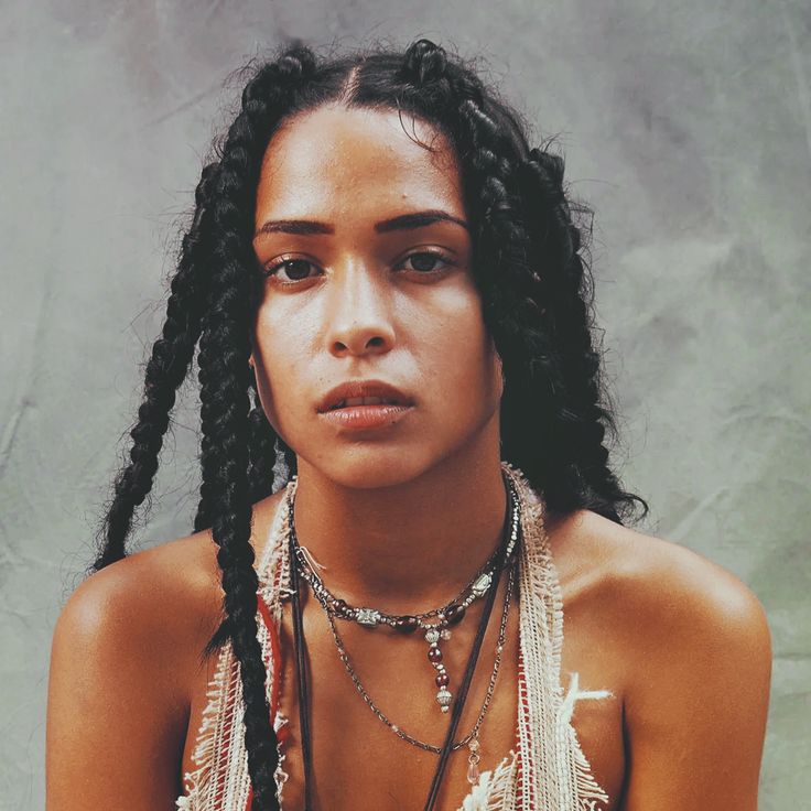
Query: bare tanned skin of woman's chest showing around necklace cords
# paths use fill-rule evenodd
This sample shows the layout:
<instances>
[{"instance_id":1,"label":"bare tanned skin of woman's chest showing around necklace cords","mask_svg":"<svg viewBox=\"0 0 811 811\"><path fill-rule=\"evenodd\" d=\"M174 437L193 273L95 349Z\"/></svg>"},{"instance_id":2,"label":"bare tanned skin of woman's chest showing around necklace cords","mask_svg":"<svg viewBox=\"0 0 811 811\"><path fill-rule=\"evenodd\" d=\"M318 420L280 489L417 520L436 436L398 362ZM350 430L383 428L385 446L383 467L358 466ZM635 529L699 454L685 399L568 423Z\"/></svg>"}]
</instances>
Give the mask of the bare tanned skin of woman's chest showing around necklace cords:
<instances>
[{"instance_id":1,"label":"bare tanned skin of woman's chest showing around necklace cords","mask_svg":"<svg viewBox=\"0 0 811 811\"><path fill-rule=\"evenodd\" d=\"M619 808L626 768L621 720L624 677L617 652L608 640L596 638L591 628L584 596L573 594L566 605L560 682L565 695L572 688L572 674L577 674L578 692L574 694L571 726L595 780L610 798L606 809L613 811ZM495 688L488 691L496 668L502 602L497 601L496 606L456 737L458 740L468 735L487 703L478 732L478 768L499 774L499 769L504 771L509 766L510 753L518 749L518 595L506 620ZM422 808L437 757L425 747L408 743L392 727L429 746L439 747L444 739L447 715L440 712L435 701L435 671L426 657L426 642L417 635L392 638L354 623L342 623L337 629L350 673L342 661L326 617L314 601L305 605L304 624L311 666L315 807L374 807L381 811ZM473 641L474 624L461 624L452 634L442 648L450 675L448 689L455 693ZM303 764L289 610L283 614L280 642L281 712L290 720L283 747L288 774L283 800L285 811L298 811L303 808ZM194 685L184 772L193 767L191 756L209 677L210 673L201 672ZM451 756L437 810L455 811L468 796L468 747L463 746Z\"/></svg>"}]
</instances>

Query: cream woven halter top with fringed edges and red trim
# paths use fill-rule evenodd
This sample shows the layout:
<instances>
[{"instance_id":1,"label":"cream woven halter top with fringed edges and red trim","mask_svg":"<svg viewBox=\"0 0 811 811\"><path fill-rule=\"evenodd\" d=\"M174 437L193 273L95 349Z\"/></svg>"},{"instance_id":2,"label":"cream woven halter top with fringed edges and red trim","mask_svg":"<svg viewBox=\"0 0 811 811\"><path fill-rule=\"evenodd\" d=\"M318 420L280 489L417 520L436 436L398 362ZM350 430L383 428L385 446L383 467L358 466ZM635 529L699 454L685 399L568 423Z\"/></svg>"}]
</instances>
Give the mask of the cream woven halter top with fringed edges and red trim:
<instances>
[{"instance_id":1,"label":"cream woven halter top with fringed edges and red trim","mask_svg":"<svg viewBox=\"0 0 811 811\"><path fill-rule=\"evenodd\" d=\"M608 691L580 691L573 673L565 695L560 683L563 604L543 528L543 501L523 474L504 462L519 497L523 543L519 561L519 669L516 749L484 771L459 811L605 811L608 796L592 775L571 723L578 699ZM295 487L295 480L288 487ZM259 561L258 638L268 671L268 701L279 737L277 785L282 799L288 720L279 710L280 584L286 582L288 499L282 498ZM283 571L284 570L284 571ZM193 753L196 769L184 775L181 811L247 811L252 791L245 748L242 685L230 644L219 652Z\"/></svg>"}]
</instances>

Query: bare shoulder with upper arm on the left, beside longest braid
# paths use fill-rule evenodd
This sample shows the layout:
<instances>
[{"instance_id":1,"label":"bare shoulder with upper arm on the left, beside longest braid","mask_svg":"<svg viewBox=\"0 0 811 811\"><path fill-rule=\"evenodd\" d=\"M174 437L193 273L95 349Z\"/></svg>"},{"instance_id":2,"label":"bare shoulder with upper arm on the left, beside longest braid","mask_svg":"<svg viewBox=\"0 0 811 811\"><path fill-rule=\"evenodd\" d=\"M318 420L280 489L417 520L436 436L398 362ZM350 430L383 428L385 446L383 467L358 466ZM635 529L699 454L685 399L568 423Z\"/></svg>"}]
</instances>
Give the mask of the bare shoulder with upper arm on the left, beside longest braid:
<instances>
[{"instance_id":1,"label":"bare shoulder with upper arm on the left, beside longest braid","mask_svg":"<svg viewBox=\"0 0 811 811\"><path fill-rule=\"evenodd\" d=\"M214 566L212 566L212 563ZM47 809L173 808L190 685L216 627L210 538L136 553L84 581L54 631Z\"/></svg>"}]
</instances>

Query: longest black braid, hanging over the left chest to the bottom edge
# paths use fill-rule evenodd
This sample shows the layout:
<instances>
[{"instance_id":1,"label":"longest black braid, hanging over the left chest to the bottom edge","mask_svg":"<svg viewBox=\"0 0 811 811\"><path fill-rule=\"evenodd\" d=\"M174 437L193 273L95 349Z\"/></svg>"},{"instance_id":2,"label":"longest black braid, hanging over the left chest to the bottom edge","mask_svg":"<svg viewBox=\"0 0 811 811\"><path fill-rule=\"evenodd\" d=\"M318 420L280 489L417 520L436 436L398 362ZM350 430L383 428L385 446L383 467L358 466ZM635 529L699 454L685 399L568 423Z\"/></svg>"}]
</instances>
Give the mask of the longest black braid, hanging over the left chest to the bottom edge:
<instances>
[{"instance_id":1,"label":"longest black braid, hanging over the left chest to the bottom edge","mask_svg":"<svg viewBox=\"0 0 811 811\"><path fill-rule=\"evenodd\" d=\"M209 309L201 338L201 414L206 437L202 467L210 500L212 534L219 547L224 608L239 660L245 702L245 742L255 809L278 809L277 737L270 723L266 668L257 638L258 576L250 544L248 483L250 325L256 305L252 219L256 186L267 141L291 105L302 75L314 65L305 50L266 65L242 94L220 161Z\"/></svg>"}]
</instances>

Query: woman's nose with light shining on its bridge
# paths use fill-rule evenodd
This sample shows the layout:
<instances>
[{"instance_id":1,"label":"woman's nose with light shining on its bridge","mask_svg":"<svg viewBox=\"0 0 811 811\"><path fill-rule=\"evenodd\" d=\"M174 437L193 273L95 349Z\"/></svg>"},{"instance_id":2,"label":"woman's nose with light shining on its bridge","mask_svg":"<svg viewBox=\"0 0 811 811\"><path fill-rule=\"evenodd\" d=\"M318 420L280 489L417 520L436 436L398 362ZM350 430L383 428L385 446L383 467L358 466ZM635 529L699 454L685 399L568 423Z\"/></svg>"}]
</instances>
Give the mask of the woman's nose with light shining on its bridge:
<instances>
[{"instance_id":1,"label":"woman's nose with light shining on its bridge","mask_svg":"<svg viewBox=\"0 0 811 811\"><path fill-rule=\"evenodd\" d=\"M394 345L391 291L378 269L350 260L333 274L327 343L336 357L382 355Z\"/></svg>"}]
</instances>

